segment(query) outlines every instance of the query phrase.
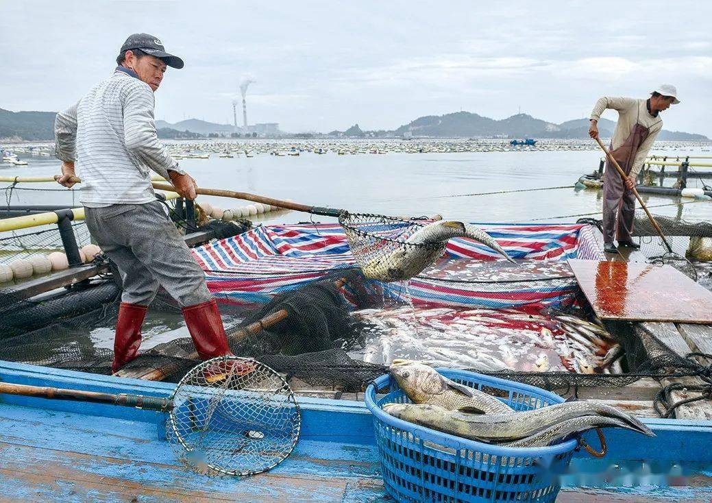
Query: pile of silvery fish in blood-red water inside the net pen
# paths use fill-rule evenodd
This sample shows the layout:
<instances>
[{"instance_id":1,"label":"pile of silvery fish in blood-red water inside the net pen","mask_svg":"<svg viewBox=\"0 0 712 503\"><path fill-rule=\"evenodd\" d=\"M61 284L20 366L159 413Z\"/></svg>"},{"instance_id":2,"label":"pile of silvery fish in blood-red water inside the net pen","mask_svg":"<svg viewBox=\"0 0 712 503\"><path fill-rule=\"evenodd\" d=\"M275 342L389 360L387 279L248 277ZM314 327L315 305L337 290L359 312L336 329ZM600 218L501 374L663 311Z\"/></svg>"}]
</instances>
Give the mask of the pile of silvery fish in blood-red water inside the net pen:
<instances>
[{"instance_id":1,"label":"pile of silvery fish in blood-red water inside the net pen","mask_svg":"<svg viewBox=\"0 0 712 503\"><path fill-rule=\"evenodd\" d=\"M365 309L353 318L352 358L396 358L476 370L623 373L623 349L600 325L576 316L517 309Z\"/></svg>"}]
</instances>

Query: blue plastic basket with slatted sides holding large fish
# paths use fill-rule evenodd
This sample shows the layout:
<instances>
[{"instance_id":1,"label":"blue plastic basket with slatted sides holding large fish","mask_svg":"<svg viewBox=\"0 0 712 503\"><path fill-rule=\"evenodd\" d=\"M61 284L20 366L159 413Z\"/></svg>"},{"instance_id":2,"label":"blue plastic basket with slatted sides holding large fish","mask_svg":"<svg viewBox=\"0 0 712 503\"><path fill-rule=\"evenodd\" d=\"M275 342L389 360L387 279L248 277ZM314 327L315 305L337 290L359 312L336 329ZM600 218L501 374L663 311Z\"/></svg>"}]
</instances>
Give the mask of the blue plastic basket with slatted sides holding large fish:
<instances>
[{"instance_id":1,"label":"blue plastic basket with slatted sides holding large fish","mask_svg":"<svg viewBox=\"0 0 712 503\"><path fill-rule=\"evenodd\" d=\"M515 410L564 400L534 386L464 370L438 369L458 383L501 396ZM377 400L376 391L389 386ZM553 502L578 442L500 447L414 425L382 410L410 400L389 375L366 389L386 491L399 502Z\"/></svg>"}]
</instances>

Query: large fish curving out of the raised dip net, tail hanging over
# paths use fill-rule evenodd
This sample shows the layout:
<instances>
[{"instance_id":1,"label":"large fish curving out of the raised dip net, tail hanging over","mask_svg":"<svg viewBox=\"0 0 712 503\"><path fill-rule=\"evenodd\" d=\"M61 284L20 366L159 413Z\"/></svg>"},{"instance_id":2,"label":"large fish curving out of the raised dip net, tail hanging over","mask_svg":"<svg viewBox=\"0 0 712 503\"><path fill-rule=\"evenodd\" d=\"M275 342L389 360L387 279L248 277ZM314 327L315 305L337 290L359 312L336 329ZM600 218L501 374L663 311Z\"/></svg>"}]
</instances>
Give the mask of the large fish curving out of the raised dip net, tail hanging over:
<instances>
[{"instance_id":1,"label":"large fish curving out of the raised dip net, tail hanging over","mask_svg":"<svg viewBox=\"0 0 712 503\"><path fill-rule=\"evenodd\" d=\"M467 237L498 251L514 262L501 246L486 232L472 224L440 220L421 227L404 244L379 254L361 266L367 278L379 281L403 281L420 274L442 256L445 245L454 237Z\"/></svg>"}]
</instances>

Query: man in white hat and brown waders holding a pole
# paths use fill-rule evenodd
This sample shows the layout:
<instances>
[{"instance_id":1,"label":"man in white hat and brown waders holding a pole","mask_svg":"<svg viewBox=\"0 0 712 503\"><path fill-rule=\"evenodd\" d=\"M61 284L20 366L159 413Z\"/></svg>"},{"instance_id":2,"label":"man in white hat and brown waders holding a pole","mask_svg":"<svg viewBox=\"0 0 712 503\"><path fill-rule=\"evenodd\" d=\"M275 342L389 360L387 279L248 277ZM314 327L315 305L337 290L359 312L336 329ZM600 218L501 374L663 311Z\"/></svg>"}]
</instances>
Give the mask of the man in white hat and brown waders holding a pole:
<instances>
[{"instance_id":1,"label":"man in white hat and brown waders holding a pole","mask_svg":"<svg viewBox=\"0 0 712 503\"><path fill-rule=\"evenodd\" d=\"M609 147L611 155L623 168L627 177L622 180L610 160L606 159L603 180L603 242L609 253L617 253L618 246L639 248L633 242L635 195L632 189L643 167L643 162L663 127L660 113L670 105L680 103L674 85L659 85L647 100L642 98L599 98L591 112L588 134L598 138L598 120L607 108L618 111L618 123Z\"/></svg>"}]
</instances>

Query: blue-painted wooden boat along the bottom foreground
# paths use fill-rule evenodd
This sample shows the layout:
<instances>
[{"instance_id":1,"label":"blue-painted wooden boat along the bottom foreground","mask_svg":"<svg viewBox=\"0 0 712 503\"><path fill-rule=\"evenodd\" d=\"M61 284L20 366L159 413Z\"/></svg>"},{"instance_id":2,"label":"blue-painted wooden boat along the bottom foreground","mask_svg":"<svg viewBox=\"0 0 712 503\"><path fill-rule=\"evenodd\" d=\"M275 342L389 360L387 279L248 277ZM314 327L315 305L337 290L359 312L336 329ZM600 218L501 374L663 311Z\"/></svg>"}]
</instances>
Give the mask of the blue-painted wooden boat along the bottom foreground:
<instances>
[{"instance_id":1,"label":"blue-painted wooden boat along the bottom foreground","mask_svg":"<svg viewBox=\"0 0 712 503\"><path fill-rule=\"evenodd\" d=\"M0 363L10 383L169 396L173 385ZM0 481L2 500L62 502L320 501L377 502L386 498L372 418L365 405L345 400L301 398L303 422L298 446L288 460L250 478L209 477L185 469L165 441L164 415L93 403L0 395ZM669 467L696 462L698 473L712 467L712 422L645 420L655 438L607 430L609 454L591 460L577 453L579 471L612 465L629 470L646 464ZM590 439L597 445L595 438ZM706 466L705 463L711 463ZM702 464L702 465L700 465ZM567 482L568 480L568 482ZM575 477L565 484L576 484ZM700 485L700 484L698 484ZM686 488L686 497L707 497L710 484ZM617 501L679 498L679 489L609 488ZM566 494L586 494L575 487ZM592 494L602 494L594 491ZM608 493L604 493L608 494ZM642 498L642 499L641 499ZM599 499L607 501L607 499Z\"/></svg>"}]
</instances>

